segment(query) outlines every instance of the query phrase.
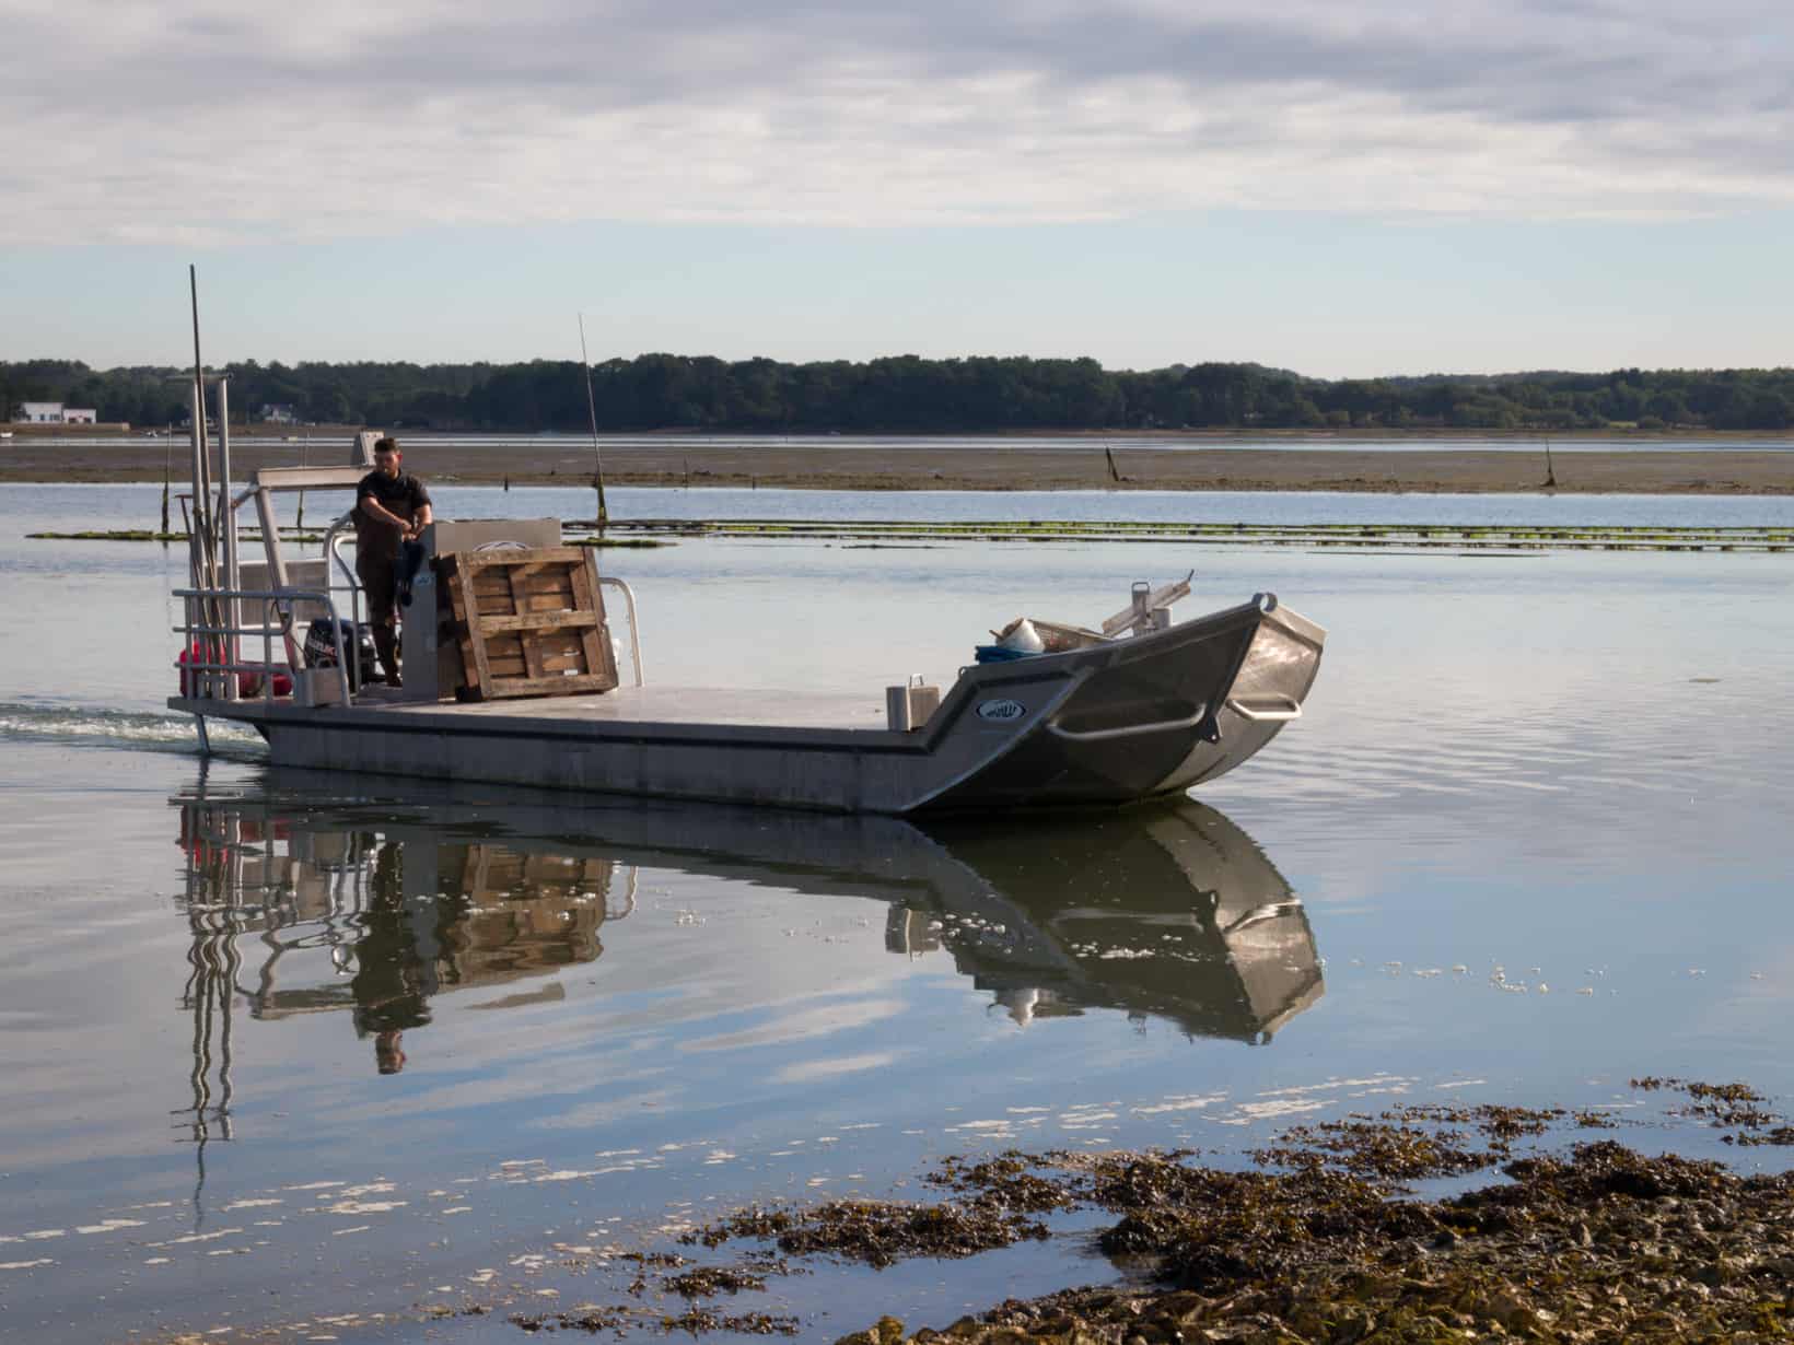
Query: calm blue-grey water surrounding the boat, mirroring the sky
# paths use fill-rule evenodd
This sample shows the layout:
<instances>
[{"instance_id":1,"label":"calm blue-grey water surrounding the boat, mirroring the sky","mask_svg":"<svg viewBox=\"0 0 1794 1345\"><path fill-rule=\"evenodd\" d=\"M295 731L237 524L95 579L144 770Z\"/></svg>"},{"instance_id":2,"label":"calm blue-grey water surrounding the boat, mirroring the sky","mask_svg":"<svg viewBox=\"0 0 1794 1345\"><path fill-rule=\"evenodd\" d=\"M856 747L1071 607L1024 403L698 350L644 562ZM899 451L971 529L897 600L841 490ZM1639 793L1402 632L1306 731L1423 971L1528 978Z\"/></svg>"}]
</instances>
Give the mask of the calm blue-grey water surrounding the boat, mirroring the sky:
<instances>
[{"instance_id":1,"label":"calm blue-grey water surrounding the boat, mirroring the sky","mask_svg":"<svg viewBox=\"0 0 1794 1345\"><path fill-rule=\"evenodd\" d=\"M445 508L562 499L445 491ZM782 499L615 491L612 508L777 516ZM1410 508L953 499L972 518ZM1552 520L1789 508L1446 502L1493 511L1471 522L1564 506ZM515 1338L511 1309L425 1327L416 1306L506 1284L536 1307L615 1302L633 1268L567 1255L755 1198L886 1194L974 1148L1189 1142L1227 1160L1290 1117L1464 1098L1616 1105L1652 1117L1629 1142L1728 1153L1661 1130L1627 1080L1794 1096L1787 558L752 542L605 558L637 588L664 683L877 698L904 672L951 678L1014 615L1089 620L1191 563L1184 615L1274 590L1331 631L1304 719L1200 803L917 829L271 773L248 735L203 766L161 708L179 552L18 540L152 509L140 488L0 502L0 1338ZM736 1307L797 1311L832 1340L883 1309L944 1325L1109 1275L1067 1236L782 1280Z\"/></svg>"}]
</instances>

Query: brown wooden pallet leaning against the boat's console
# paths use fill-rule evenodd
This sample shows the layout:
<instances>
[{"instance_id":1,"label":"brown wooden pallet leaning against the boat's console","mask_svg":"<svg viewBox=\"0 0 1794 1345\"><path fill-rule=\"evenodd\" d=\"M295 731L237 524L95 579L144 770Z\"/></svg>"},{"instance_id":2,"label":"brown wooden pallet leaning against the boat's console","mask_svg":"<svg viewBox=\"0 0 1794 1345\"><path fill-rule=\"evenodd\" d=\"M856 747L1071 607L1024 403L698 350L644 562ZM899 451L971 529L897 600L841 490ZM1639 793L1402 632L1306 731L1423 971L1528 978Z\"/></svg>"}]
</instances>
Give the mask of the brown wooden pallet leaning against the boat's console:
<instances>
[{"instance_id":1,"label":"brown wooden pallet leaning against the boat's console","mask_svg":"<svg viewBox=\"0 0 1794 1345\"><path fill-rule=\"evenodd\" d=\"M465 699L576 696L617 685L588 549L457 551L436 567L454 612Z\"/></svg>"}]
</instances>

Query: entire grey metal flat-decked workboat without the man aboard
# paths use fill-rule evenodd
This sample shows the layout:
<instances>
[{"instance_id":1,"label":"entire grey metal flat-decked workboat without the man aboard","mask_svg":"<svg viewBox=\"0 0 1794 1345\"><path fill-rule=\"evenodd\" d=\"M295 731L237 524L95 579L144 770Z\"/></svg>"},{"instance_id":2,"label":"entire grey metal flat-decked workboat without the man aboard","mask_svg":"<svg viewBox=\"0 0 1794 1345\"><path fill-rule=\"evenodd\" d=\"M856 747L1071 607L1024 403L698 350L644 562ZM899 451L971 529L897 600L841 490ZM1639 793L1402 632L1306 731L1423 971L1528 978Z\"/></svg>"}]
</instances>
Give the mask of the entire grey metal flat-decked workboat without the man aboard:
<instances>
[{"instance_id":1,"label":"entire grey metal flat-decked workboat without the man aboard","mask_svg":"<svg viewBox=\"0 0 1794 1345\"><path fill-rule=\"evenodd\" d=\"M438 520L420 540L405 685L384 687L353 647L364 594L341 556L348 515L323 554L289 558L274 508L280 491L353 491L373 438L357 438L348 468L262 468L233 495L228 438L213 482L196 430L183 685L169 705L201 737L206 719L231 719L282 766L832 812L1128 803L1263 748L1301 716L1326 638L1268 594L1171 624L1188 581L1136 585L1100 629L1037 622L1035 647L962 669L944 694L649 687L633 594L562 547L558 520ZM239 556L248 504L258 560ZM635 685L619 685L606 586L626 606ZM307 629L325 631L310 653Z\"/></svg>"}]
</instances>

